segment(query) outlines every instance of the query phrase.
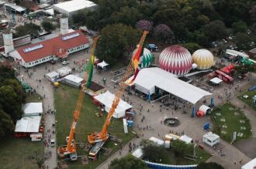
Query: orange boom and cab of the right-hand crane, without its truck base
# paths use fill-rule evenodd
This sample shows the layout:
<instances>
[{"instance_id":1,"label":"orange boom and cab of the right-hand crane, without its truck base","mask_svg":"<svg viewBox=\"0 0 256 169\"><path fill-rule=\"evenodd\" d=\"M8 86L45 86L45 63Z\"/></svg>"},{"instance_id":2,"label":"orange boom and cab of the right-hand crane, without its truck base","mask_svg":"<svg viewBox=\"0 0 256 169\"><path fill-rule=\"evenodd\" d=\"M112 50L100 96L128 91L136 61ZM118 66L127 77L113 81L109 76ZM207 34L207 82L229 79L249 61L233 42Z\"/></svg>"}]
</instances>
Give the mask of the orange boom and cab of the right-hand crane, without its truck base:
<instances>
[{"instance_id":1,"label":"orange boom and cab of the right-hand crane, without its truck base","mask_svg":"<svg viewBox=\"0 0 256 169\"><path fill-rule=\"evenodd\" d=\"M140 42L137 45L137 50L133 54L133 58L134 58L134 56L140 55L140 52L143 48L143 44L144 44L144 41L146 39L147 34L148 34L148 32L144 31L144 34L140 38ZM126 85L126 80L129 79L130 76L132 75L133 69L135 68L135 66L137 67L137 63L133 62L133 59L131 59L129 65L127 67L126 73L124 73L123 79L120 83L120 88L117 91L116 96L113 100L113 103L112 103L111 109L109 110L108 116L106 117L106 121L102 126L102 130L99 132L99 134L94 133L94 134L89 134L88 135L88 142L90 144L94 144L94 143L97 143L97 142L100 142L100 141L106 141L108 139L108 127L109 127L110 120L111 120L112 115L115 112L116 107L119 104L120 98L123 95L123 92L124 92L124 90L127 86Z\"/></svg>"}]
</instances>

